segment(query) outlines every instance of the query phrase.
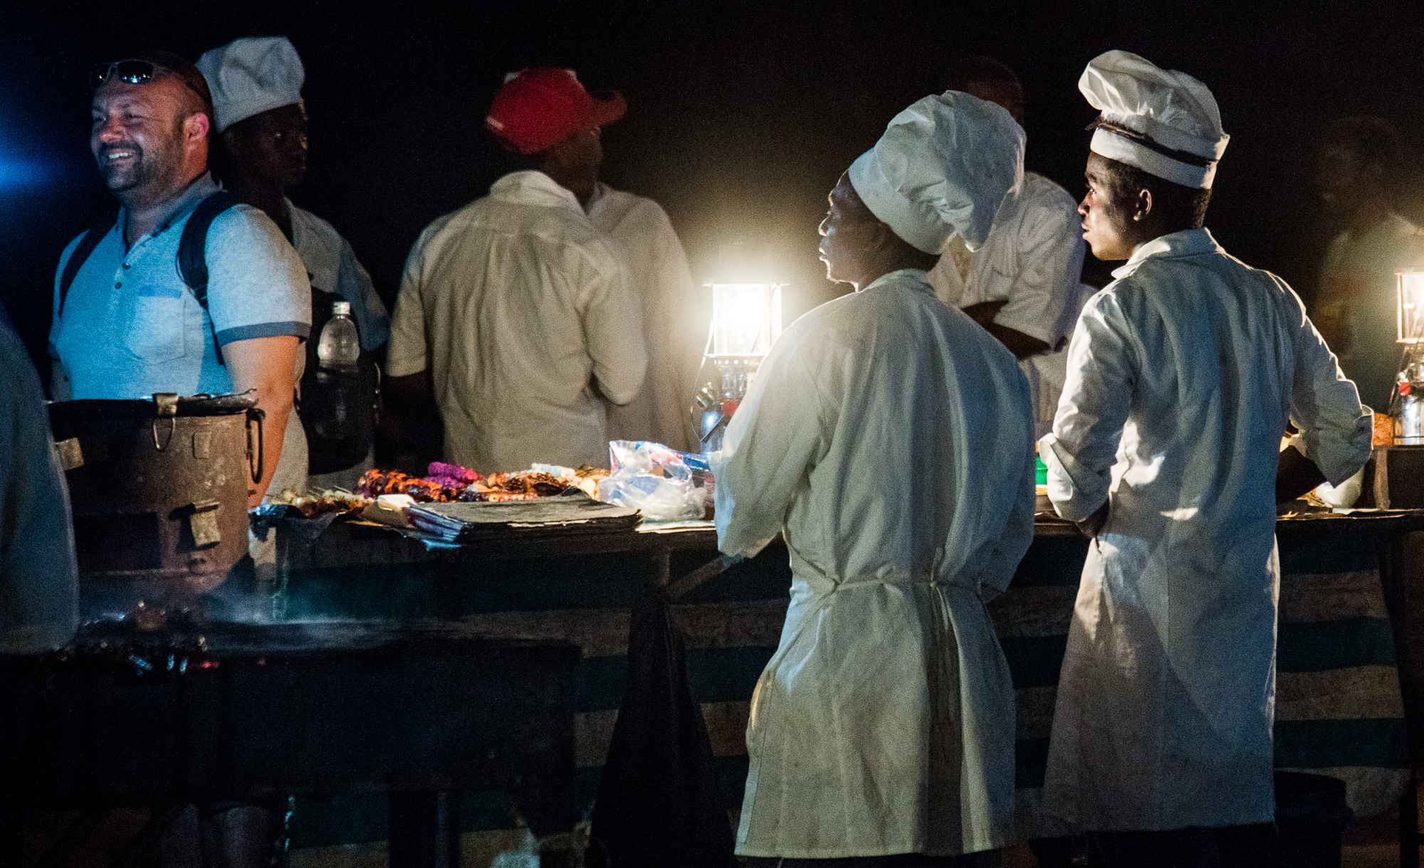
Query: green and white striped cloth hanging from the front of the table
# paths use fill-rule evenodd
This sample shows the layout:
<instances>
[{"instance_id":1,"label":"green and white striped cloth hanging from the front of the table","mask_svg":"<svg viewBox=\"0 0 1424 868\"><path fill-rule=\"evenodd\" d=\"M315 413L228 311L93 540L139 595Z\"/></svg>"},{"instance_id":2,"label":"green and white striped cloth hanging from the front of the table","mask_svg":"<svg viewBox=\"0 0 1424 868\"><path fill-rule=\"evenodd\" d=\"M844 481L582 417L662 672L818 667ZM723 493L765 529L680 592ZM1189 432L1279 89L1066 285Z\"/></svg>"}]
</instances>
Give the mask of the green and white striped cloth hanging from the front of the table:
<instances>
[{"instance_id":1,"label":"green and white striped cloth hanging from the front of the table","mask_svg":"<svg viewBox=\"0 0 1424 868\"><path fill-rule=\"evenodd\" d=\"M1008 593L991 605L1018 696L1017 785L1025 835L1055 831L1038 805L1058 670L1085 552L1082 538L1038 536ZM1276 764L1340 777L1357 815L1380 813L1398 798L1408 754L1373 541L1350 532L1290 534L1282 536L1280 555ZM711 556L711 551L675 556L674 573ZM339 575L308 575L292 589L289 615L300 618L303 606L323 616L342 606L357 618L426 612L436 592L419 575L393 583L393 569L383 565L366 572L346 568ZM490 635L582 646L575 734L585 808L597 793L622 702L628 610L642 593L645 575L629 571L627 561L607 556L561 569L507 562L471 575L457 603L463 623ZM686 635L689 680L702 703L731 810L740 808L742 801L752 689L776 649L787 589L785 551L776 549L674 606ZM515 825L503 794L464 794L466 864L490 864L493 852L518 840L511 831ZM360 864L363 854L376 864L383 852L384 795L299 800L292 830L298 868Z\"/></svg>"}]
</instances>

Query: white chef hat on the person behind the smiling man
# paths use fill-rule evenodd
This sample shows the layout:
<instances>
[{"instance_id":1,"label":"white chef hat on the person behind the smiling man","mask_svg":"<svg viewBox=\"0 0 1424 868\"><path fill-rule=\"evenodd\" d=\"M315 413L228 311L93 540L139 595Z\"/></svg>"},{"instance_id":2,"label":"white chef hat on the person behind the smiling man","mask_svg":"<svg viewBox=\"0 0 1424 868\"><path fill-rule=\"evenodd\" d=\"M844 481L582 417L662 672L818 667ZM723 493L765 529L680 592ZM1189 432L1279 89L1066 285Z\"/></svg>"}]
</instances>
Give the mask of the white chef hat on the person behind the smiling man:
<instances>
[{"instance_id":1,"label":"white chef hat on the person behind the smiling man","mask_svg":"<svg viewBox=\"0 0 1424 868\"><path fill-rule=\"evenodd\" d=\"M255 36L205 51L198 68L212 91L218 132L238 121L302 101L306 70L285 36Z\"/></svg>"}]
</instances>

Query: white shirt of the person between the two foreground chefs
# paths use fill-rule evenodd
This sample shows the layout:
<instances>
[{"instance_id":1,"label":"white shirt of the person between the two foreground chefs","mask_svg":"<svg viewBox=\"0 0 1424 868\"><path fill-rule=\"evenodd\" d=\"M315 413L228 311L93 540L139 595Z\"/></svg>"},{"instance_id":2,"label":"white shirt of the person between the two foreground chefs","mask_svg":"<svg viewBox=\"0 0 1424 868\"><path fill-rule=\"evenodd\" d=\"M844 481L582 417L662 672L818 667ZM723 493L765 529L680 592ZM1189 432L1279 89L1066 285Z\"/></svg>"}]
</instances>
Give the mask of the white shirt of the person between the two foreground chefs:
<instances>
[{"instance_id":1,"label":"white shirt of the person between the two foreground chefs","mask_svg":"<svg viewBox=\"0 0 1424 868\"><path fill-rule=\"evenodd\" d=\"M946 253L930 272L930 283L950 307L1007 300L995 323L1057 347L1072 332L1088 297L1078 282L1082 255L1078 203L1048 178L1024 172L1022 191L1004 199L988 240L968 253L967 276L960 276L954 256ZM1052 428L1067 357L1068 351L1059 350L1018 363L1034 401L1035 437Z\"/></svg>"}]
</instances>

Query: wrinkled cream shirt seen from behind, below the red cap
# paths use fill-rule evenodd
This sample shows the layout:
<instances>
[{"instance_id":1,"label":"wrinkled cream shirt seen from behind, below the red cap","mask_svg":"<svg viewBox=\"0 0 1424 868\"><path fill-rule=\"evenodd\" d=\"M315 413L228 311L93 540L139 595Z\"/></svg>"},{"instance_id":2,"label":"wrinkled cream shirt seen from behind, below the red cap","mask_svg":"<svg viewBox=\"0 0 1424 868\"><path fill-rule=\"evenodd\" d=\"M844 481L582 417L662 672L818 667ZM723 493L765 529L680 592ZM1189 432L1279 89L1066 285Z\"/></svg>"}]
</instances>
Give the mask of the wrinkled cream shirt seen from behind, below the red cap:
<instances>
[{"instance_id":1,"label":"wrinkled cream shirt seen from behind, below the red cap","mask_svg":"<svg viewBox=\"0 0 1424 868\"><path fill-rule=\"evenodd\" d=\"M386 371L430 367L447 461L608 465L605 398L642 386L642 314L617 242L535 171L430 223L406 260Z\"/></svg>"}]
</instances>

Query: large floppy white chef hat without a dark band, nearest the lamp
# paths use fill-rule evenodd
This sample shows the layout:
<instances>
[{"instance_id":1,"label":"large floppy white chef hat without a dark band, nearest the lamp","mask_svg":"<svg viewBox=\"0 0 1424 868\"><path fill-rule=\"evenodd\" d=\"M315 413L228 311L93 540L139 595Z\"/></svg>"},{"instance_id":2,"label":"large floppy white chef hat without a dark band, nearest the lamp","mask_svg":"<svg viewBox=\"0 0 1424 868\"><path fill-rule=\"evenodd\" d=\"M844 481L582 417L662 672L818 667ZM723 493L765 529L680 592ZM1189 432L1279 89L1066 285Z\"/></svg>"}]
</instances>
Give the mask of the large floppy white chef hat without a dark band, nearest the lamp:
<instances>
[{"instance_id":1,"label":"large floppy white chef hat without a dark band, nearest the lamp","mask_svg":"<svg viewBox=\"0 0 1424 868\"><path fill-rule=\"evenodd\" d=\"M940 253L958 232L974 250L1024 181L1024 131L1004 108L946 91L891 118L849 175L870 212L910 245Z\"/></svg>"}]
</instances>

